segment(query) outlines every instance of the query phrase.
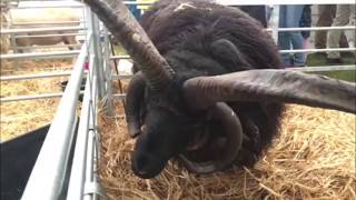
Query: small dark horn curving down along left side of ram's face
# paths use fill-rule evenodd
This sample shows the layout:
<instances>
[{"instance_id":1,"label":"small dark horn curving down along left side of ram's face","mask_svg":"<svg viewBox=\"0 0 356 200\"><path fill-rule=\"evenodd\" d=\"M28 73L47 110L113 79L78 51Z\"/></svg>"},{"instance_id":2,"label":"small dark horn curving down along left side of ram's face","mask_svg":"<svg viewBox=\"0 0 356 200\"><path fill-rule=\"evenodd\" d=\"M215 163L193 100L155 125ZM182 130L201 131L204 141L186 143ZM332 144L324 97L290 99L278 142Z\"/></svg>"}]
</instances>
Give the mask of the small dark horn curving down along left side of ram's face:
<instances>
[{"instance_id":1,"label":"small dark horn curving down along left side of ram's face","mask_svg":"<svg viewBox=\"0 0 356 200\"><path fill-rule=\"evenodd\" d=\"M140 106L145 96L146 81L141 72L135 73L126 94L125 114L128 132L131 138L141 132Z\"/></svg>"}]
</instances>

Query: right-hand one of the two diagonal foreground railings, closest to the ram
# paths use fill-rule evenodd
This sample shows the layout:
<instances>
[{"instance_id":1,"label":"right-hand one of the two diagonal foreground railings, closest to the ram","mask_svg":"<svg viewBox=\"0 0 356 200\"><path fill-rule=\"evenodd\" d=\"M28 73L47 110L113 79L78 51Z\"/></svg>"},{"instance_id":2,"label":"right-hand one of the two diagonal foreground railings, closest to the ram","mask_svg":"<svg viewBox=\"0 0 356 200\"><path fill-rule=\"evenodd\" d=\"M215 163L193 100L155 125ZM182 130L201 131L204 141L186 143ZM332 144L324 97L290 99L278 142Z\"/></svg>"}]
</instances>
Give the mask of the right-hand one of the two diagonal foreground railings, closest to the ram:
<instances>
[{"instance_id":1,"label":"right-hand one of the two diagonal foreground railings, closest to the ram","mask_svg":"<svg viewBox=\"0 0 356 200\"><path fill-rule=\"evenodd\" d=\"M93 57L91 57L89 73L87 76L87 84L80 114L78 136L76 139L73 163L71 166L71 174L67 199L90 199L90 196L96 197L97 193L105 196L105 190L97 180L93 179L95 168L92 158L93 152L98 151L95 142L98 138L97 129L97 81L93 76ZM89 196L89 197L88 197Z\"/></svg>"}]
</instances>

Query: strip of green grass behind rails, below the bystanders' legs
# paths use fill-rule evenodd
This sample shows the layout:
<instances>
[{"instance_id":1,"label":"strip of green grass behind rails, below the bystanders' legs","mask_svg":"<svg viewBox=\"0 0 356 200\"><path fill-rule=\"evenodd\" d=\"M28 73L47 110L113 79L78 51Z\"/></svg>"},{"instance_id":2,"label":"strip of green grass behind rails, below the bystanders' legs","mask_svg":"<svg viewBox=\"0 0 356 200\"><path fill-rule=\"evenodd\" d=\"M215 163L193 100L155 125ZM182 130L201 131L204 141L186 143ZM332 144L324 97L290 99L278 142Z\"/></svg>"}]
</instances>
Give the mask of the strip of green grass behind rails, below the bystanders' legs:
<instances>
[{"instance_id":1,"label":"strip of green grass behind rails, below the bystanders' legs","mask_svg":"<svg viewBox=\"0 0 356 200\"><path fill-rule=\"evenodd\" d=\"M343 57L343 64L355 64L355 57L354 56L345 56ZM320 56L316 53L308 54L307 58L307 66L315 67L315 66L329 66L326 59L326 56ZM356 71L355 70L346 70L346 71L320 71L320 72L313 72L316 74L324 74L330 78L340 79L345 81L356 82Z\"/></svg>"}]
</instances>

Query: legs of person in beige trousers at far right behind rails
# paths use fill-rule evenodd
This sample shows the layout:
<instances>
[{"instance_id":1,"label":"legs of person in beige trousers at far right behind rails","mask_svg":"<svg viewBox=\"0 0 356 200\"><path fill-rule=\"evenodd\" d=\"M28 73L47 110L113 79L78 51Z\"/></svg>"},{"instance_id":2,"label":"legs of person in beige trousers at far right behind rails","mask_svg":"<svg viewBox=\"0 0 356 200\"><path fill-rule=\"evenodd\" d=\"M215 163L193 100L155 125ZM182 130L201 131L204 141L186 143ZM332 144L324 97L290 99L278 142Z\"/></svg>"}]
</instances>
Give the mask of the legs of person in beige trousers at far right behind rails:
<instances>
[{"instance_id":1,"label":"legs of person in beige trousers at far right behind rails","mask_svg":"<svg viewBox=\"0 0 356 200\"><path fill-rule=\"evenodd\" d=\"M333 21L333 27L343 27L343 26L356 26L356 4L337 4L336 16ZM339 48L339 39L343 30L329 30L327 34L328 48ZM350 41L354 42L355 47L355 30L353 30ZM340 58L340 52L332 51L327 53L327 60L330 64L343 63Z\"/></svg>"}]
</instances>

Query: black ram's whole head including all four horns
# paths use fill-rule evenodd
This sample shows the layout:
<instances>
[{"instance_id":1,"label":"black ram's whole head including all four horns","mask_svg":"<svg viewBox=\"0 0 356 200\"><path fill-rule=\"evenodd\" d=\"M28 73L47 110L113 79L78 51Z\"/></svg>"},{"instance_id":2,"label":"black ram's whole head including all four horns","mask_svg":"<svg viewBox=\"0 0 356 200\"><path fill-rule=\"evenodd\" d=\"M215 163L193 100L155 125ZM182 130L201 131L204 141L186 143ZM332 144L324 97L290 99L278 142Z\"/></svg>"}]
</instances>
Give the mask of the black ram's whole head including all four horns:
<instances>
[{"instance_id":1,"label":"black ram's whole head including all four horns","mask_svg":"<svg viewBox=\"0 0 356 200\"><path fill-rule=\"evenodd\" d=\"M197 173L231 164L246 136L238 114L226 102L299 103L356 112L355 84L320 76L266 69L180 81L121 1L86 2L140 70L127 92L126 114L129 133L137 137L132 170L141 178L159 174L177 156ZM149 107L142 110L148 101ZM210 148L219 150L218 159L201 161L184 153L211 139Z\"/></svg>"}]
</instances>

